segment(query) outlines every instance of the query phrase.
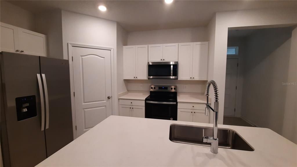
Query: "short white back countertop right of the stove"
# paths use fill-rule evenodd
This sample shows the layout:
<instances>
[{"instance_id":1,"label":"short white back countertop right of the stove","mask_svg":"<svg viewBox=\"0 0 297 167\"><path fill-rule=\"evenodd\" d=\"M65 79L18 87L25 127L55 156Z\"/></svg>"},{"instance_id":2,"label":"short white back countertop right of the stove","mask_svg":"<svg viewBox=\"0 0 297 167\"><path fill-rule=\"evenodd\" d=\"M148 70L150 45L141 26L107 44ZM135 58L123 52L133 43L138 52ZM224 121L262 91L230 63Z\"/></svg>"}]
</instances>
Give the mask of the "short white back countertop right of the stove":
<instances>
[{"instance_id":1,"label":"short white back countertop right of the stove","mask_svg":"<svg viewBox=\"0 0 297 167\"><path fill-rule=\"evenodd\" d=\"M211 98L208 99L211 103ZM177 93L177 102L185 103L206 103L206 96L203 93Z\"/></svg>"}]
</instances>

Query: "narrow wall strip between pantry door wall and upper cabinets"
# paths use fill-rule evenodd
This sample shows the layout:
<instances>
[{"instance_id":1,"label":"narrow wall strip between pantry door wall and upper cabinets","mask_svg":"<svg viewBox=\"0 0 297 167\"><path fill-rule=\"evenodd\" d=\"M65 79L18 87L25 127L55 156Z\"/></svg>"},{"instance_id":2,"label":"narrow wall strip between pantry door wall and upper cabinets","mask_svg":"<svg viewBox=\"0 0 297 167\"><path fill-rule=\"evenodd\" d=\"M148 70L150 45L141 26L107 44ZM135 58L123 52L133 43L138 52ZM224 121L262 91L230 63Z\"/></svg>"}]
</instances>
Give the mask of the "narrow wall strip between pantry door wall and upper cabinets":
<instances>
[{"instance_id":1,"label":"narrow wall strip between pantry door wall and upper cabinets","mask_svg":"<svg viewBox=\"0 0 297 167\"><path fill-rule=\"evenodd\" d=\"M127 45L128 34L118 23L116 24L116 47L117 47L117 77L118 77L118 94L126 92L127 88L123 80L123 46Z\"/></svg>"}]
</instances>

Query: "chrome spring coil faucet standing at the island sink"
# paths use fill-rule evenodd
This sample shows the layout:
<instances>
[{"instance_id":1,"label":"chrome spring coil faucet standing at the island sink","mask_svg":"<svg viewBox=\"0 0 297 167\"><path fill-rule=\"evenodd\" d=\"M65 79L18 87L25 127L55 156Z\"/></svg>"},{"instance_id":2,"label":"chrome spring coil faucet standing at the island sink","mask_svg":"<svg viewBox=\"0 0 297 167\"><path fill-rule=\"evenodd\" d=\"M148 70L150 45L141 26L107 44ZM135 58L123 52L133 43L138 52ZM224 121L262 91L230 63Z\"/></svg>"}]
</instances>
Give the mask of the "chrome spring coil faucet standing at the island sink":
<instances>
[{"instance_id":1,"label":"chrome spring coil faucet standing at the island sink","mask_svg":"<svg viewBox=\"0 0 297 167\"><path fill-rule=\"evenodd\" d=\"M208 103L208 96L209 96L209 88L210 85L214 87L214 108L211 108L211 106ZM206 90L206 109L211 109L214 112L214 129L213 129L213 136L204 136L204 129L203 129L203 142L204 143L211 143L210 151L214 154L218 153L218 146L219 146L219 139L217 138L218 134L218 116L219 116L219 91L217 83L214 80L210 80L207 82Z\"/></svg>"}]
</instances>

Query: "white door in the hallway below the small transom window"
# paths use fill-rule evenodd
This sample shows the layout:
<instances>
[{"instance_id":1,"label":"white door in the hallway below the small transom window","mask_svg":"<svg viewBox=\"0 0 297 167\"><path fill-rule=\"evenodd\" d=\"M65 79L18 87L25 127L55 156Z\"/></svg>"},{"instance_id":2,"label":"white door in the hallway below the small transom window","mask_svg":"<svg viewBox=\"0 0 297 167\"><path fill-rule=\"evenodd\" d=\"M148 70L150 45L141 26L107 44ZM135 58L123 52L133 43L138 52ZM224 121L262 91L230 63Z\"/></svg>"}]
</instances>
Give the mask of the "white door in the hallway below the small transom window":
<instances>
[{"instance_id":1,"label":"white door in the hallway below the small transom window","mask_svg":"<svg viewBox=\"0 0 297 167\"><path fill-rule=\"evenodd\" d=\"M224 115L235 116L238 59L227 59Z\"/></svg>"}]
</instances>

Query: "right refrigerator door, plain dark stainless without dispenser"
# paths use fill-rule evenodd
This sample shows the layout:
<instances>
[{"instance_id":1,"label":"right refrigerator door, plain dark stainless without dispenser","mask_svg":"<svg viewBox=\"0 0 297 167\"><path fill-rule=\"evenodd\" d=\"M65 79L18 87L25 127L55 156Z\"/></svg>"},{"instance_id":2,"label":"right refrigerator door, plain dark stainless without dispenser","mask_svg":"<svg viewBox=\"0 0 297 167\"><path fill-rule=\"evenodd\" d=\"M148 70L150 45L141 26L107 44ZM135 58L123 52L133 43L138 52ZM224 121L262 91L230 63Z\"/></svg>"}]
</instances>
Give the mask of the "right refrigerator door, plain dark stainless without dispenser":
<instances>
[{"instance_id":1,"label":"right refrigerator door, plain dark stainless without dispenser","mask_svg":"<svg viewBox=\"0 0 297 167\"><path fill-rule=\"evenodd\" d=\"M45 137L49 157L73 141L69 62L40 57L40 69L45 89Z\"/></svg>"}]
</instances>

